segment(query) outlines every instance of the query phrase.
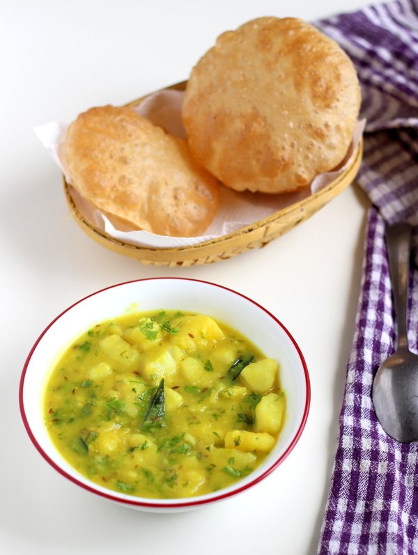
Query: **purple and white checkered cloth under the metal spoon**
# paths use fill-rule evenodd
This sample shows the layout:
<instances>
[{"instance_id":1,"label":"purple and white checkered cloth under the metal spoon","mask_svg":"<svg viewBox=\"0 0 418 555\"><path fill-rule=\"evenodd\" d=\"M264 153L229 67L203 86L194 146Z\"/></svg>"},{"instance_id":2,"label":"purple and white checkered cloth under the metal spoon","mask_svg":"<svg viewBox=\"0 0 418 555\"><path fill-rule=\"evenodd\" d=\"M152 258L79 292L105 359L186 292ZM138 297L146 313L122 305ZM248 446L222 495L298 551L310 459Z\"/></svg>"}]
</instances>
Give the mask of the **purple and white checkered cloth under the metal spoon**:
<instances>
[{"instance_id":1,"label":"purple and white checkered cloth under the metal spoon","mask_svg":"<svg viewBox=\"0 0 418 555\"><path fill-rule=\"evenodd\" d=\"M373 376L394 352L385 226L418 225L418 0L316 23L352 58L367 118L357 182L369 210L362 293L318 554L418 554L418 442L388 437L373 411ZM412 242L417 260L417 228ZM418 271L410 269L408 340L418 353Z\"/></svg>"}]
</instances>

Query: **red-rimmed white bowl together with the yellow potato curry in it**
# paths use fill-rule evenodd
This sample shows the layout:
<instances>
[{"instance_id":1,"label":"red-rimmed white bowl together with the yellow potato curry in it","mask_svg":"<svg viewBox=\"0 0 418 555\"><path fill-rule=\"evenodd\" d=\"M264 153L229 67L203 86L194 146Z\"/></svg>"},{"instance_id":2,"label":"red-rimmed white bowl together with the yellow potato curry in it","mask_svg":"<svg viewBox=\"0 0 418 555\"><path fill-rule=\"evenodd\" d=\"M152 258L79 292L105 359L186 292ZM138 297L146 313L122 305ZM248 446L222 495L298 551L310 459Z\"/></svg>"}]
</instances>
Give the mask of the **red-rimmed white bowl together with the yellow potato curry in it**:
<instances>
[{"instance_id":1,"label":"red-rimmed white bowl together with the yellow potato curry in it","mask_svg":"<svg viewBox=\"0 0 418 555\"><path fill-rule=\"evenodd\" d=\"M65 478L139 510L244 492L291 452L309 411L297 343L265 308L204 281L111 286L61 313L24 365L20 409Z\"/></svg>"}]
</instances>

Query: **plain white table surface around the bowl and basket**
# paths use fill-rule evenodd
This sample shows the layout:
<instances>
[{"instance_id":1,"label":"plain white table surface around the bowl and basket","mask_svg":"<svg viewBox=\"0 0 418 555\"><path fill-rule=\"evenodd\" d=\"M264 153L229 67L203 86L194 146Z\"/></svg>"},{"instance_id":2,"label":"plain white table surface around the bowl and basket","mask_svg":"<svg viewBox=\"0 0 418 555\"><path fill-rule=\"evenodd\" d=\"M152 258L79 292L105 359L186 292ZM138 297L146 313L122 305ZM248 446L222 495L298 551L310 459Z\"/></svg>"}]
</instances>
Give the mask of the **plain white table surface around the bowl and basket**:
<instances>
[{"instance_id":1,"label":"plain white table surface around the bowl and basket","mask_svg":"<svg viewBox=\"0 0 418 555\"><path fill-rule=\"evenodd\" d=\"M254 17L309 21L367 3L0 1L2 554L316 552L359 295L364 194L351 185L265 249L208 266L145 266L100 247L70 218L60 171L32 127L183 81L219 33ZM150 276L251 297L288 327L311 377L309 419L281 467L245 494L175 515L121 508L67 482L29 441L17 405L26 355L56 315L95 290Z\"/></svg>"}]
</instances>

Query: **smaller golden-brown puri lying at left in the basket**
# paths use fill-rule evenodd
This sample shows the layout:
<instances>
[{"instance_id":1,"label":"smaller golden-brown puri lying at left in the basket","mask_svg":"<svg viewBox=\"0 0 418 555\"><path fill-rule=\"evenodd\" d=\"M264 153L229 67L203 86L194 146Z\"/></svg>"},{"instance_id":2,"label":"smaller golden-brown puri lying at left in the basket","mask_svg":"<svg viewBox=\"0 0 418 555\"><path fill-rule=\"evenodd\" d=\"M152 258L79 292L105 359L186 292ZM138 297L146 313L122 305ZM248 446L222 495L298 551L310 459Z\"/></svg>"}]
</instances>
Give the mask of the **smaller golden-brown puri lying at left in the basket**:
<instances>
[{"instance_id":1,"label":"smaller golden-brown puri lying at left in the basket","mask_svg":"<svg viewBox=\"0 0 418 555\"><path fill-rule=\"evenodd\" d=\"M158 235L201 235L219 208L217 180L187 141L131 108L104 106L68 128L65 159L72 185L100 210Z\"/></svg>"}]
</instances>

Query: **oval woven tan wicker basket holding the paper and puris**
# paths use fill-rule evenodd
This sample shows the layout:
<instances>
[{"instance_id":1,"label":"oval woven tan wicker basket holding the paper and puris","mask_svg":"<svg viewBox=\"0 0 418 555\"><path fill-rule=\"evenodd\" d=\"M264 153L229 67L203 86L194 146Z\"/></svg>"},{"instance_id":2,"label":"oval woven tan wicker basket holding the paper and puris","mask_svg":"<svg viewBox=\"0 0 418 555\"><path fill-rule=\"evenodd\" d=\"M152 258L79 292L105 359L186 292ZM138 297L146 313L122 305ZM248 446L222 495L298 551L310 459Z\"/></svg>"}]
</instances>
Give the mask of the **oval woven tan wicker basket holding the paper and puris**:
<instances>
[{"instance_id":1,"label":"oval woven tan wicker basket holding the paper and puris","mask_svg":"<svg viewBox=\"0 0 418 555\"><path fill-rule=\"evenodd\" d=\"M186 81L167 88L183 91ZM141 97L127 104L136 106L146 97ZM210 264L218 260L231 258L236 254L264 247L273 239L284 235L288 230L300 224L312 214L317 212L325 204L330 202L334 196L341 193L355 179L362 161L362 142L359 143L350 165L330 185L324 187L318 193L304 200L279 210L274 214L257 221L255 224L240 228L233 233L217 237L192 247L175 247L170 249L157 249L150 247L139 247L128 244L111 237L104 231L95 227L84 215L79 212L71 196L68 183L64 178L65 198L67 199L72 216L77 224L96 242L111 251L130 256L140 260L143 264L158 266L194 266L197 264Z\"/></svg>"}]
</instances>

